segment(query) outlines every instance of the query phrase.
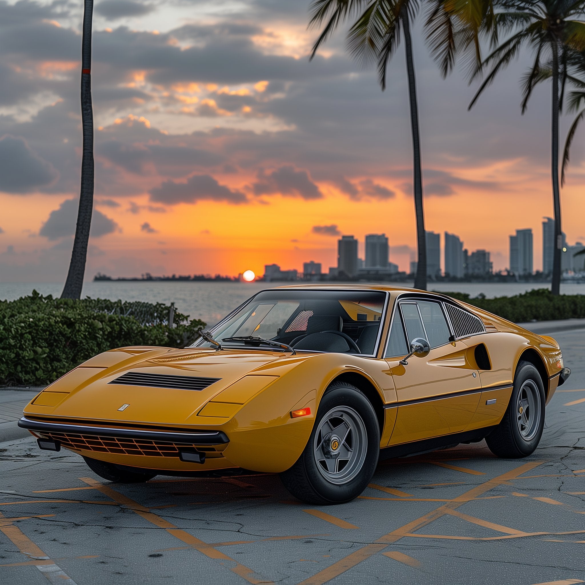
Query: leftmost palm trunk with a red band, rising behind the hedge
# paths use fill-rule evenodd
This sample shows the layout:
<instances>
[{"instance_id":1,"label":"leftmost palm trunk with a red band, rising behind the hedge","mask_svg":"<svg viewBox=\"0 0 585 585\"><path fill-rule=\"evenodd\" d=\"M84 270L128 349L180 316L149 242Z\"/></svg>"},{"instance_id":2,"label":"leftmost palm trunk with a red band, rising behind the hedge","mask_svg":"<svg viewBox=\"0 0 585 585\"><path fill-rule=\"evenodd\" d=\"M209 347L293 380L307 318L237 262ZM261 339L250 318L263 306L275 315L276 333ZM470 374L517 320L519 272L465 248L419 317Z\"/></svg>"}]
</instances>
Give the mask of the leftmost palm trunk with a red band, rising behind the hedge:
<instances>
[{"instance_id":1,"label":"leftmost palm trunk with a red band, rising behind the hedge","mask_svg":"<svg viewBox=\"0 0 585 585\"><path fill-rule=\"evenodd\" d=\"M61 298L81 298L87 243L90 239L91 214L94 208L94 112L91 105L91 19L94 1L85 0L81 40L81 124L83 156L77 226L69 272Z\"/></svg>"}]
</instances>

